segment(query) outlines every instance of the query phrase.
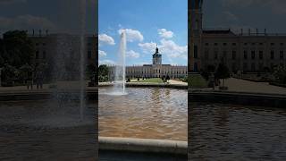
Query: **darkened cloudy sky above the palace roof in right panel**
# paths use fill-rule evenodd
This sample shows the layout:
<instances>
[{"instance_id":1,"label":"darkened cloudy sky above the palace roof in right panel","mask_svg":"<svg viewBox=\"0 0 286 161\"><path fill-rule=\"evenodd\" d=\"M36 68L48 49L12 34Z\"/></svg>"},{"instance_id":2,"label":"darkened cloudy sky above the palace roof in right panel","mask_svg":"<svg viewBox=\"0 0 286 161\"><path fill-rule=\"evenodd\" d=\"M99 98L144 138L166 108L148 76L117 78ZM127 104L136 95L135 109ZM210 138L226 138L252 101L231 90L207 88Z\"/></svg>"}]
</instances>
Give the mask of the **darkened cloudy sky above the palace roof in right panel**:
<instances>
[{"instance_id":1,"label":"darkened cloudy sky above the palace roof in right panel","mask_svg":"<svg viewBox=\"0 0 286 161\"><path fill-rule=\"evenodd\" d=\"M204 27L286 33L285 8L285 0L205 0Z\"/></svg>"}]
</instances>

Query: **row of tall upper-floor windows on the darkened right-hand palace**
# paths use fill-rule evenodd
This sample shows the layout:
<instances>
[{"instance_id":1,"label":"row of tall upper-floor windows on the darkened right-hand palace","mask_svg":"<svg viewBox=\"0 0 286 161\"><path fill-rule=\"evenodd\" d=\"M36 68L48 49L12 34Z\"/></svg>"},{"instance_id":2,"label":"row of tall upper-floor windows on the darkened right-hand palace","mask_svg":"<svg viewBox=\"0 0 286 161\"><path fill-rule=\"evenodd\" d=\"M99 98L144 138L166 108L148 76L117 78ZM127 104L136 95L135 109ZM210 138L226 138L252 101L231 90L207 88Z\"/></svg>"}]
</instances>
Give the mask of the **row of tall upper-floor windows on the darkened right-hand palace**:
<instances>
[{"instance_id":1,"label":"row of tall upper-floor windows on the darkened right-hand palace","mask_svg":"<svg viewBox=\"0 0 286 161\"><path fill-rule=\"evenodd\" d=\"M197 55L198 56L198 55ZM226 51L223 51L223 57L227 57L227 52ZM256 59L257 57L257 53L256 51L251 51L251 59ZM198 58L198 57L195 57L195 58ZM205 52L205 59L208 59L209 58L209 53L208 51ZM233 60L235 60L237 58L237 52L235 50L232 51L232 55L231 55L231 58ZM243 58L244 59L248 59L248 51L247 50L244 50L243 51ZM258 52L258 58L260 60L264 59L264 53L263 51L259 51ZM275 54L274 54L274 51L270 51L270 59L274 59L275 58ZM280 51L279 53L279 58L280 59L284 59L284 51ZM214 59L218 59L218 51L214 51Z\"/></svg>"}]
</instances>

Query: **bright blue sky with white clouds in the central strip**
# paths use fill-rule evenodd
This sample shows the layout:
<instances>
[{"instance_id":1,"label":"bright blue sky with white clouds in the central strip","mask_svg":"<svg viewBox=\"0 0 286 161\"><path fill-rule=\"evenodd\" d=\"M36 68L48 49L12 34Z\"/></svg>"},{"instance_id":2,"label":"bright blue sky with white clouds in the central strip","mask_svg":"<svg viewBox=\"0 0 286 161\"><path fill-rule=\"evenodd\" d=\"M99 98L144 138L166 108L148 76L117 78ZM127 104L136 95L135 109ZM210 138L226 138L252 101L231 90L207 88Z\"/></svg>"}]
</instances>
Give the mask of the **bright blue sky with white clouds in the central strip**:
<instances>
[{"instance_id":1,"label":"bright blue sky with white clouds in the central strip","mask_svg":"<svg viewBox=\"0 0 286 161\"><path fill-rule=\"evenodd\" d=\"M188 64L187 0L99 0L99 63L114 64L119 30L127 32L127 64L151 64L156 44L163 64Z\"/></svg>"}]
</instances>

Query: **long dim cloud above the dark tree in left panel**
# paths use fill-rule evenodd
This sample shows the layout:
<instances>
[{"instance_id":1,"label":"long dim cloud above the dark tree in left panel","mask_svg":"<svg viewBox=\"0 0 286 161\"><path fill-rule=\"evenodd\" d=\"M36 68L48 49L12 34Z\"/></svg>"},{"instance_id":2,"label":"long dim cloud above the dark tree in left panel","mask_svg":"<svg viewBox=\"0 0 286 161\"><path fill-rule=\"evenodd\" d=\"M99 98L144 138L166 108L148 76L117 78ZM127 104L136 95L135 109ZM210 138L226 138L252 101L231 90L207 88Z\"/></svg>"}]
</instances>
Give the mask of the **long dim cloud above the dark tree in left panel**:
<instances>
[{"instance_id":1,"label":"long dim cloud above the dark tree in left panel","mask_svg":"<svg viewBox=\"0 0 286 161\"><path fill-rule=\"evenodd\" d=\"M0 17L0 30L56 30L56 25L45 17L19 15L14 18Z\"/></svg>"}]
</instances>

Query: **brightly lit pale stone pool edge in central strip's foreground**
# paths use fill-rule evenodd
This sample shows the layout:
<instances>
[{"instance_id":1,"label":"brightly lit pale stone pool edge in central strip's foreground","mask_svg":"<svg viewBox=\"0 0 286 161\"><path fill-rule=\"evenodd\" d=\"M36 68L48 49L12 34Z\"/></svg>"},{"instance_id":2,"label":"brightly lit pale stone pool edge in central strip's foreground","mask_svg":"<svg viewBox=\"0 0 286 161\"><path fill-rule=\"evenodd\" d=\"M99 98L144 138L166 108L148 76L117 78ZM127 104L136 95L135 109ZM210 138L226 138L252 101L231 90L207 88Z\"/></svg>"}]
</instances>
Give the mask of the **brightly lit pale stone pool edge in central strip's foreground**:
<instances>
[{"instance_id":1,"label":"brightly lit pale stone pool edge in central strip's foreground","mask_svg":"<svg viewBox=\"0 0 286 161\"><path fill-rule=\"evenodd\" d=\"M136 153L162 153L187 155L188 142L176 140L150 140L118 137L98 137L99 150Z\"/></svg>"}]
</instances>

